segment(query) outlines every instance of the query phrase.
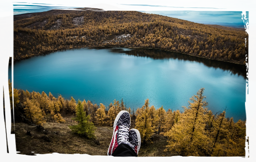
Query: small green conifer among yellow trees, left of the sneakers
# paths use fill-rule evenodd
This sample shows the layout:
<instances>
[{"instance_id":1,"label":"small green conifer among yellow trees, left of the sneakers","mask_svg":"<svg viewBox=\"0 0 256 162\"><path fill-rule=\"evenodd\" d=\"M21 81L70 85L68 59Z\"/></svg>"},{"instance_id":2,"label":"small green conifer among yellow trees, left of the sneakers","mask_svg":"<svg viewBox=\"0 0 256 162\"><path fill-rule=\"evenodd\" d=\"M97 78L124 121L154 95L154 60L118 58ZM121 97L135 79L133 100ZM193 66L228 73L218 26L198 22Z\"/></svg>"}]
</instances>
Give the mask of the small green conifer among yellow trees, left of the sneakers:
<instances>
[{"instance_id":1,"label":"small green conifer among yellow trees, left of the sneakers","mask_svg":"<svg viewBox=\"0 0 256 162\"><path fill-rule=\"evenodd\" d=\"M80 100L78 100L78 104L76 106L75 120L78 122L78 124L69 126L73 132L88 138L95 138L95 126L92 122L90 122L90 115L86 116Z\"/></svg>"}]
</instances>

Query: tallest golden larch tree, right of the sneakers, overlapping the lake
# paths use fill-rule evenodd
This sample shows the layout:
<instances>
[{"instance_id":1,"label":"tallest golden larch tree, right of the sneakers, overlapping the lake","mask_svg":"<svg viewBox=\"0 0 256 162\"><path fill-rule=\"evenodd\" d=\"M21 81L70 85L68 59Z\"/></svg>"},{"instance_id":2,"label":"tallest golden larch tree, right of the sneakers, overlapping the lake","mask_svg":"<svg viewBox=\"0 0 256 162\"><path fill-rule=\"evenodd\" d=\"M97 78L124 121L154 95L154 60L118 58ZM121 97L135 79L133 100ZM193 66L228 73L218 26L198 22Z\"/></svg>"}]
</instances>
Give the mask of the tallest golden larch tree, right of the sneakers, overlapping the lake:
<instances>
[{"instance_id":1,"label":"tallest golden larch tree, right of the sneakers, overlapping the lake","mask_svg":"<svg viewBox=\"0 0 256 162\"><path fill-rule=\"evenodd\" d=\"M205 131L206 113L208 103L203 101L204 88L197 92L189 102L189 107L184 107L184 113L170 131L167 151L177 153L190 162L207 161L210 154L210 138Z\"/></svg>"}]
</instances>

